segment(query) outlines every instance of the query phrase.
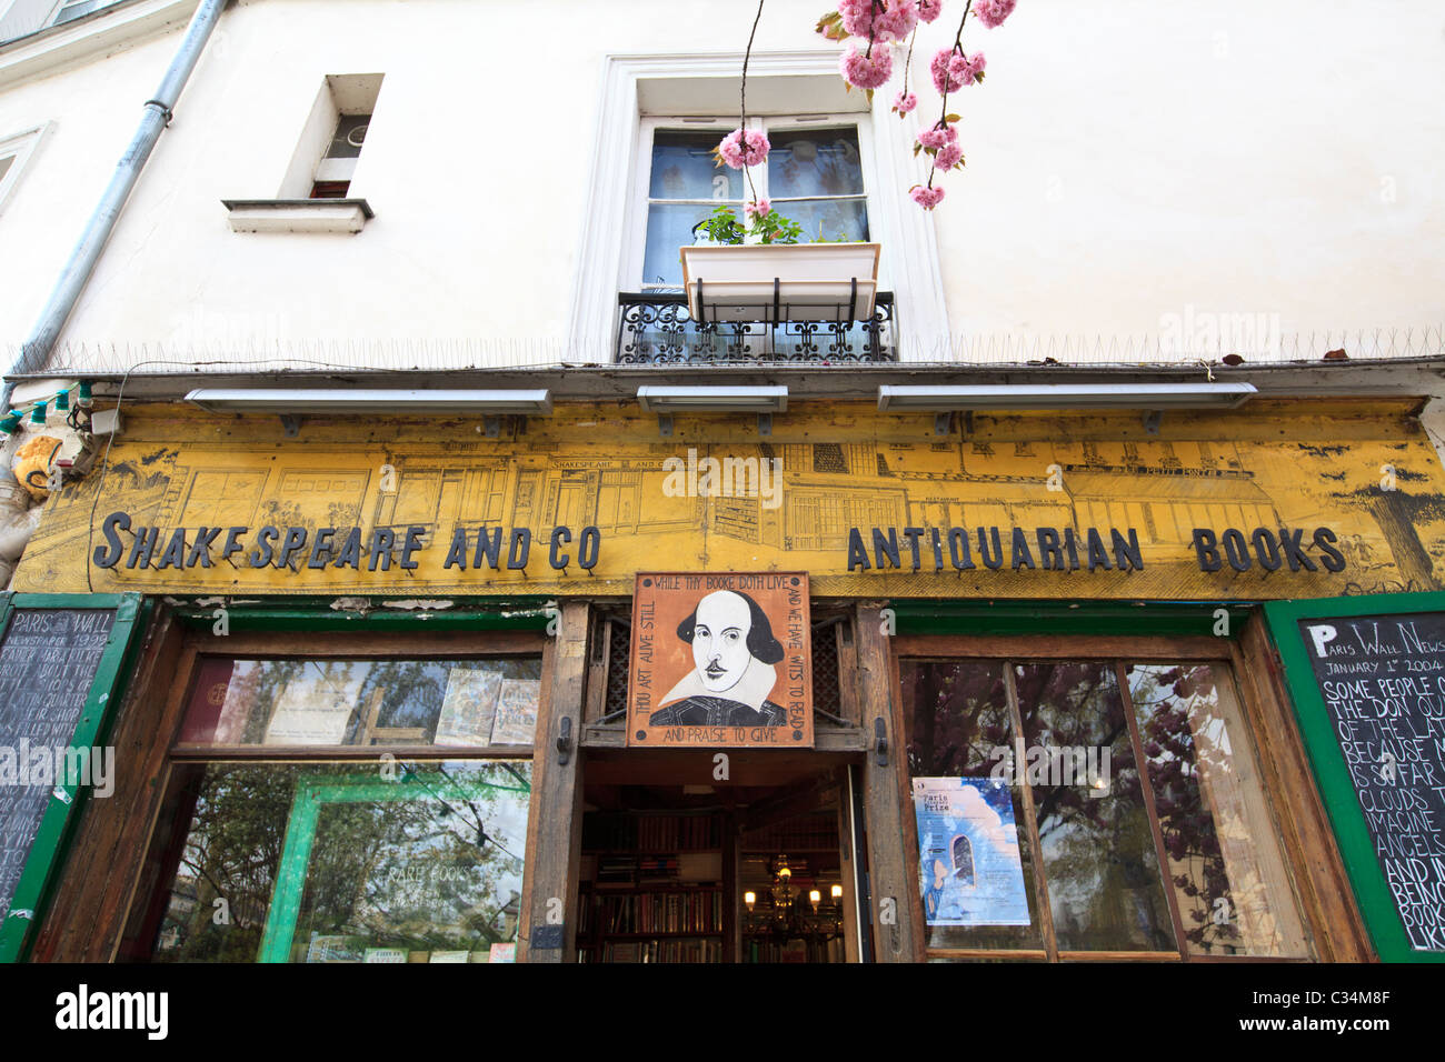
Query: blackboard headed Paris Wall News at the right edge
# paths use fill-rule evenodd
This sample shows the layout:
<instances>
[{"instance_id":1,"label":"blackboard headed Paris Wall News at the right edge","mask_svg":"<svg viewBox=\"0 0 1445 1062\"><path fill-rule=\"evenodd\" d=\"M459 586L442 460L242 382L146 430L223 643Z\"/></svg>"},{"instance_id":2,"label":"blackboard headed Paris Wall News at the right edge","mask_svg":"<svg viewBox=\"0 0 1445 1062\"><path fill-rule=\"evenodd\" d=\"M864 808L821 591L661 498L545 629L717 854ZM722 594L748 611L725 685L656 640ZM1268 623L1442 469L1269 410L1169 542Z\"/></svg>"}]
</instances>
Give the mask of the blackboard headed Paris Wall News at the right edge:
<instances>
[{"instance_id":1,"label":"blackboard headed Paris Wall News at the right edge","mask_svg":"<svg viewBox=\"0 0 1445 1062\"><path fill-rule=\"evenodd\" d=\"M1445 614L1295 623L1409 946L1445 952Z\"/></svg>"}]
</instances>

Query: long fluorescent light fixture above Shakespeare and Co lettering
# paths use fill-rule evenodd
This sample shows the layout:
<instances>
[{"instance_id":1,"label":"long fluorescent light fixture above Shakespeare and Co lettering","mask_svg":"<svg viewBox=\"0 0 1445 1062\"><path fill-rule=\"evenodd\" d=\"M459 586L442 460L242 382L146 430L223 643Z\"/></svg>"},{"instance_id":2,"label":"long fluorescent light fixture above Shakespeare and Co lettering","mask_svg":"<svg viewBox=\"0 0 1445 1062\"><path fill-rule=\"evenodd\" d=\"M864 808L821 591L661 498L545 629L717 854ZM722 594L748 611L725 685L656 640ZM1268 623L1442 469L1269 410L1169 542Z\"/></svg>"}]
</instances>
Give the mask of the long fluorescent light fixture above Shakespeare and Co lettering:
<instances>
[{"instance_id":1,"label":"long fluorescent light fixture above Shakespeare and Co lettering","mask_svg":"<svg viewBox=\"0 0 1445 1062\"><path fill-rule=\"evenodd\" d=\"M198 387L185 396L211 413L552 413L549 390L387 390Z\"/></svg>"}]
</instances>

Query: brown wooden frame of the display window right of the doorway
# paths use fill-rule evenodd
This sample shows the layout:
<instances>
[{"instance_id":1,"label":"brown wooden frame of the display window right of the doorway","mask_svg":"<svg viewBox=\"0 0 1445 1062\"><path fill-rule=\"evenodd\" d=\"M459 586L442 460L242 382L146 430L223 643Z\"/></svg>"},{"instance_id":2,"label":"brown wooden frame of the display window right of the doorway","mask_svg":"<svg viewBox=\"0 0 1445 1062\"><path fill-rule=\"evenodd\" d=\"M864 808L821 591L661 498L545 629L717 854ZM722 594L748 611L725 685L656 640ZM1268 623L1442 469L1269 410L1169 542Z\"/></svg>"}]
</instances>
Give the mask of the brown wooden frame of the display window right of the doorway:
<instances>
[{"instance_id":1,"label":"brown wooden frame of the display window right of the doorway","mask_svg":"<svg viewBox=\"0 0 1445 1062\"><path fill-rule=\"evenodd\" d=\"M1133 696L1129 691L1126 666L1129 663L1208 663L1214 665L1231 685L1231 695L1238 709L1243 725L1243 741L1246 748L1235 748L1234 754L1247 754L1253 760L1253 767L1260 782L1260 798L1270 819L1272 839L1277 848L1287 880L1290 900L1295 906L1295 916L1299 920L1306 955L1303 957L1270 957L1270 955L1191 955L1188 945L1181 939L1182 916L1173 884L1169 880L1169 863L1163 850L1163 839L1157 813L1155 811L1153 785L1147 772L1140 769L1140 789L1147 812L1150 834L1155 844L1159 864L1159 884L1163 899L1175 926L1175 949L1160 952L1144 951L1064 951L1055 941L1052 915L1049 905L1043 902L1048 896L1048 876L1043 867L1043 854L1039 848L1038 822L1033 818L1033 796L1027 783L1016 783L1016 799L1020 799L1030 831L1030 850L1035 873L1033 893L1030 900L1039 919L1039 933L1043 948L932 948L928 946L928 925L922 915L915 919L913 936L918 955L925 961L959 961L959 959L998 959L998 961L1043 961L1043 962L1315 962L1322 958L1319 942L1319 928L1311 918L1311 907L1306 903L1305 890L1300 881L1300 867L1296 854L1287 842L1287 832L1282 828L1280 793L1270 783L1264 767L1264 744L1260 740L1259 711L1250 701L1248 683L1244 681L1247 666L1237 643L1212 637L1123 637L1123 636L1058 636L1032 637L1023 634L980 636L980 634L900 634L893 639L890 653L890 685L893 701L897 705L900 721L899 738L902 748L912 746L912 712L905 709L902 665L910 663L962 663L968 660L998 662L1004 665L1019 663L1048 663L1048 662L1100 662L1105 663L1114 673L1118 685L1120 707L1130 731L1130 746L1134 760L1142 763L1142 740L1139 721L1134 712ZM1006 666L1006 670L1009 668ZM1016 695L1012 692L1013 682L1009 679L1010 712L1016 711ZM1233 737L1233 735L1231 735ZM1023 741L1023 734L1014 734L1014 741ZM1233 743L1231 743L1233 744ZM907 756L900 756L899 772L905 786L910 785ZM912 812L912 799L905 800L903 831L905 852L910 852L915 861L919 851L918 821ZM1025 824L1020 822L1020 829ZM912 873L918 873L910 864Z\"/></svg>"}]
</instances>

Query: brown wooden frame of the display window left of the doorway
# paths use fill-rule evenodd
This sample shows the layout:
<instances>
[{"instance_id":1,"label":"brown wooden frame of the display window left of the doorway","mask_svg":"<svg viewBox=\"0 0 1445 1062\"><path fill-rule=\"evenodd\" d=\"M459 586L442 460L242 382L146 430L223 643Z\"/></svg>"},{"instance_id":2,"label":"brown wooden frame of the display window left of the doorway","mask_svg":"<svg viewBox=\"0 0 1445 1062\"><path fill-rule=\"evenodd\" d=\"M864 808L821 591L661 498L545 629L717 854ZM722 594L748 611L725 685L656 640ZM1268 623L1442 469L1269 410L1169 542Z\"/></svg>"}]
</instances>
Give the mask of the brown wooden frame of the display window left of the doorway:
<instances>
[{"instance_id":1,"label":"brown wooden frame of the display window left of the doorway","mask_svg":"<svg viewBox=\"0 0 1445 1062\"><path fill-rule=\"evenodd\" d=\"M523 854L522 897L523 925L532 910L536 858L530 855L539 837L545 798L540 777L546 769L536 754L536 738L523 746L306 746L301 748L240 746L186 747L181 750L185 711L202 655L240 657L341 657L341 659L458 659L497 656L540 656L542 686L538 704L538 733L549 724L556 689L558 639L548 637L532 623L500 623L490 613L449 616L442 626L419 623L422 616L373 617L379 621L361 630L329 616L311 616L301 621L295 613L270 611L251 617L238 611L231 617L230 634L214 634L212 610L194 616L165 611L147 634L136 672L118 705L108 738L117 748L127 748L130 767L117 772L113 799L92 800L78 824L66 855L69 865L105 852L111 873L95 877L68 873L59 883L45 920L36 926L35 961L116 961L126 944L133 915L144 910L163 883L150 880L150 854L160 824L165 796L176 767L194 769L205 761L305 763L315 760L331 766L347 761L361 769L390 751L397 760L445 763L460 760L525 760L532 763L532 798L527 805L527 839ZM244 627L241 624L244 623ZM305 631L298 636L299 631ZM564 665L565 669L565 665ZM545 753L545 748L540 751ZM184 753L184 754L182 754ZM517 961L526 961L526 933L517 946Z\"/></svg>"}]
</instances>

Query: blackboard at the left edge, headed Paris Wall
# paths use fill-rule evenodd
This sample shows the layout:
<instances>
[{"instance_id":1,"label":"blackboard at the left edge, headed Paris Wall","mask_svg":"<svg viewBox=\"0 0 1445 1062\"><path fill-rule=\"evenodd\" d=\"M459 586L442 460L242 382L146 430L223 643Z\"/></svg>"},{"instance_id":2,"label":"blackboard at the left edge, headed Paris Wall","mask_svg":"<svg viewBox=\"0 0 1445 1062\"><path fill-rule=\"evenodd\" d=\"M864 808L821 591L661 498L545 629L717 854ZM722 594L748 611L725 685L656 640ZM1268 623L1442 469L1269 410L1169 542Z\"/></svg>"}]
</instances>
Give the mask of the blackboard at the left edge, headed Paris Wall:
<instances>
[{"instance_id":1,"label":"blackboard at the left edge, headed Paris Wall","mask_svg":"<svg viewBox=\"0 0 1445 1062\"><path fill-rule=\"evenodd\" d=\"M75 780L81 767L65 750L114 621L114 611L98 608L16 608L9 616L0 640L0 919L10 912L56 782ZM88 757L82 780L103 779L104 769L104 760Z\"/></svg>"}]
</instances>

